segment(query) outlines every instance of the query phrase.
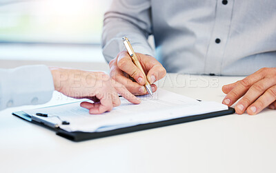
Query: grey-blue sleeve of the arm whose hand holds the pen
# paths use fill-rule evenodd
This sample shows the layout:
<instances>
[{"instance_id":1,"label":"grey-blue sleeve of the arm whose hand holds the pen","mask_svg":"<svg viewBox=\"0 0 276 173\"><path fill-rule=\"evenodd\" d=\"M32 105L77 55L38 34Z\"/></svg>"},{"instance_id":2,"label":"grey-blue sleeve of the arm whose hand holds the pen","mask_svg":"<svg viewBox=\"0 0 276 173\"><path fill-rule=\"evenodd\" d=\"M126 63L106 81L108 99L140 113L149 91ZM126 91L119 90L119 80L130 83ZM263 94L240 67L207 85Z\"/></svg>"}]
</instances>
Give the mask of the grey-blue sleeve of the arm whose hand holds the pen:
<instances>
[{"instance_id":1,"label":"grey-blue sleeve of the arm whose hand holds the pen","mask_svg":"<svg viewBox=\"0 0 276 173\"><path fill-rule=\"evenodd\" d=\"M106 61L111 61L123 50L123 37L128 37L135 52L154 57L148 43L152 34L149 0L113 0L104 15L102 48Z\"/></svg>"}]
</instances>

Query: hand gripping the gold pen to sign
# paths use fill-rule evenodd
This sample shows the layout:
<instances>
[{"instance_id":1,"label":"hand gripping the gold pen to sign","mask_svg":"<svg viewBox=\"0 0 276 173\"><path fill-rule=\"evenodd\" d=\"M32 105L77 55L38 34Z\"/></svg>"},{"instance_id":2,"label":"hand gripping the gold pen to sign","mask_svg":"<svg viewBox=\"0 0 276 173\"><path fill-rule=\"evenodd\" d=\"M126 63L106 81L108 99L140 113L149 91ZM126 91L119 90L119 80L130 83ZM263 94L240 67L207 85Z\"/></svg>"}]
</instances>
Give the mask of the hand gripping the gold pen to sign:
<instances>
[{"instance_id":1,"label":"hand gripping the gold pen to sign","mask_svg":"<svg viewBox=\"0 0 276 173\"><path fill-rule=\"evenodd\" d=\"M146 78L151 84L152 92L155 92L157 86L152 83L165 77L166 70L154 57L139 53L136 54L142 68L144 69ZM125 85L132 94L144 95L148 93L144 87L144 84L146 83L144 74L132 62L128 52L120 52L115 59L110 61L109 67L110 77ZM129 79L128 75L124 73L129 74L136 82Z\"/></svg>"}]
</instances>

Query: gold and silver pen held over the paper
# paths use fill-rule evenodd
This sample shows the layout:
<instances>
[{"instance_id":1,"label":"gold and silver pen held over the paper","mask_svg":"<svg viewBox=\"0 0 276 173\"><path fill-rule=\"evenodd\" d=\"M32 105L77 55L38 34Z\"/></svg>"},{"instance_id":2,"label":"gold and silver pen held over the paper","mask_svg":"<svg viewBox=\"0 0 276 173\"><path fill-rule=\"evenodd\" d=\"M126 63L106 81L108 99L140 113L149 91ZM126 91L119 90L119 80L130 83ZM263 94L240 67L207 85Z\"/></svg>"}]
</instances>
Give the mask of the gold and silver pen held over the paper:
<instances>
[{"instance_id":1,"label":"gold and silver pen held over the paper","mask_svg":"<svg viewBox=\"0 0 276 173\"><path fill-rule=\"evenodd\" d=\"M144 74L144 77L146 79L146 84L144 85L146 90L148 91L148 93L150 94L150 96L152 96L152 90L150 87L150 83L148 82L148 79L146 78L146 74L141 66L141 63L139 62L137 55L135 54L132 46L130 45L130 41L128 40L128 38L124 37L123 38L123 42L124 45L126 46L126 50L128 51L128 54L130 55L133 63L137 66L137 68L139 68L139 70L141 70L141 72Z\"/></svg>"}]
</instances>

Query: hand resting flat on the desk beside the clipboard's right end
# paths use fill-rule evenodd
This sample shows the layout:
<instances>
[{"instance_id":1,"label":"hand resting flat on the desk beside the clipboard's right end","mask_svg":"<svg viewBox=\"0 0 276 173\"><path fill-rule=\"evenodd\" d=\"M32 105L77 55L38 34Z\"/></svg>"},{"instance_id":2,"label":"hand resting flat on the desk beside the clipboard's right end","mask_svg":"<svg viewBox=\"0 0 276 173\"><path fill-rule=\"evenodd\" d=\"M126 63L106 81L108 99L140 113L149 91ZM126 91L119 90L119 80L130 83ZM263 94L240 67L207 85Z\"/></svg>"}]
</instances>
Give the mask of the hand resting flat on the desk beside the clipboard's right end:
<instances>
[{"instance_id":1,"label":"hand resting flat on the desk beside the clipboard's right end","mask_svg":"<svg viewBox=\"0 0 276 173\"><path fill-rule=\"evenodd\" d=\"M262 68L242 81L224 85L222 91L227 94L222 103L228 106L243 96L235 106L237 114L257 114L267 106L275 110L276 68Z\"/></svg>"}]
</instances>

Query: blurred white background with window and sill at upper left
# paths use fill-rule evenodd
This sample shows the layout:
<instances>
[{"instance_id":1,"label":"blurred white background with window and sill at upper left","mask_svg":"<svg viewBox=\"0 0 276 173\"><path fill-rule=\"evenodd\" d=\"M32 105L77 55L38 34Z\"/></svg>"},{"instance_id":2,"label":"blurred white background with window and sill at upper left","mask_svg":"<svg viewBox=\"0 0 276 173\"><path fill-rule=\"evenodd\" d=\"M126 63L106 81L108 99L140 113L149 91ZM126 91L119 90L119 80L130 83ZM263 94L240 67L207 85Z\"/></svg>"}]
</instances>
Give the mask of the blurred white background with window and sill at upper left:
<instances>
[{"instance_id":1,"label":"blurred white background with window and sill at upper left","mask_svg":"<svg viewBox=\"0 0 276 173\"><path fill-rule=\"evenodd\" d=\"M43 63L106 70L101 29L111 1L0 0L0 68Z\"/></svg>"}]
</instances>

